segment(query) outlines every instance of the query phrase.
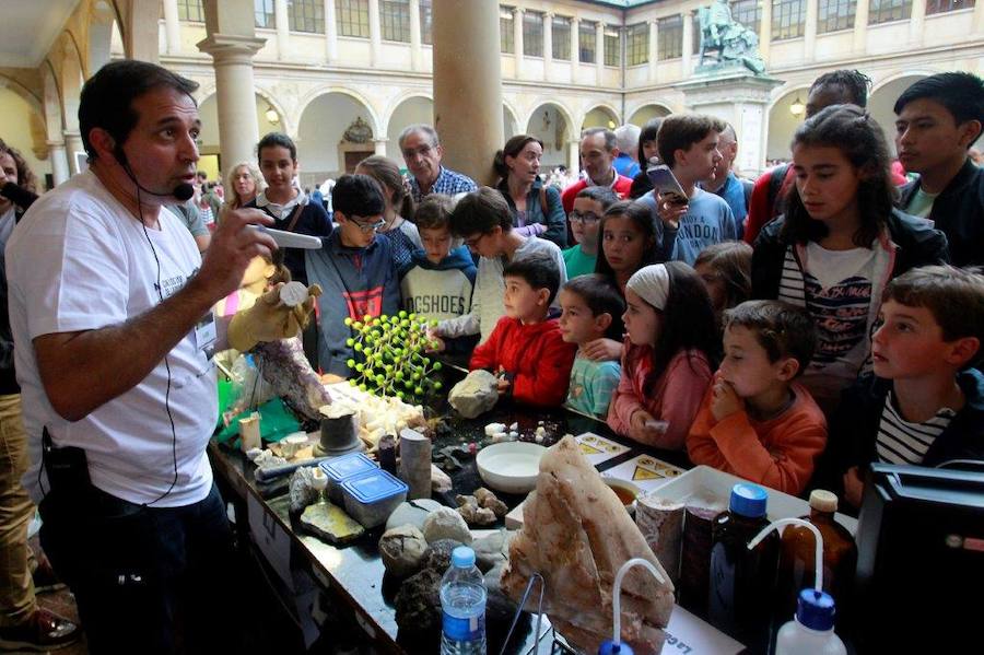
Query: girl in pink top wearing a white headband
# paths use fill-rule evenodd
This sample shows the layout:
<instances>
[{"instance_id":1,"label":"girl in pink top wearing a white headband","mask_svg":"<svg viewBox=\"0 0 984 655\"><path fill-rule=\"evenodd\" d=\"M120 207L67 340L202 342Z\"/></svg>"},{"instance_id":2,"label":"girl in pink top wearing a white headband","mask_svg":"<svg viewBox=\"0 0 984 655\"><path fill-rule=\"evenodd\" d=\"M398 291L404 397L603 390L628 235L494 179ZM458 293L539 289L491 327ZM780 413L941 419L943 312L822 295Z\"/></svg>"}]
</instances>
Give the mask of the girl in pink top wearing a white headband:
<instances>
[{"instance_id":1,"label":"girl in pink top wearing a white headband","mask_svg":"<svg viewBox=\"0 0 984 655\"><path fill-rule=\"evenodd\" d=\"M680 449L716 365L711 299L692 268L670 261L637 270L625 304L628 341L608 424L640 443Z\"/></svg>"}]
</instances>

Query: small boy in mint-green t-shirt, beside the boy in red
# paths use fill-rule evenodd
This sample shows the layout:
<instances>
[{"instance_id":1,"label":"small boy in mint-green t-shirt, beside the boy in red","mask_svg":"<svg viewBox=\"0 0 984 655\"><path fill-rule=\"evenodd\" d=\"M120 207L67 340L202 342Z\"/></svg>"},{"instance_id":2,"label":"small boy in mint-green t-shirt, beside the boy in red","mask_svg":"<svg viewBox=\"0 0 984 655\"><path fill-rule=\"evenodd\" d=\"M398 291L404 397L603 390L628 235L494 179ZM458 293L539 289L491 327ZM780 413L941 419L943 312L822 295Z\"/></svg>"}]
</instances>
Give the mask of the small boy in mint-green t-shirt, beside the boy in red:
<instances>
[{"instance_id":1,"label":"small boy in mint-green t-shirt, beside the boy in red","mask_svg":"<svg viewBox=\"0 0 984 655\"><path fill-rule=\"evenodd\" d=\"M560 292L561 337L577 346L571 369L566 406L602 421L608 416L611 394L619 386L619 362L587 358L583 348L597 339L621 339L621 316L625 301L619 290L601 276L581 276L570 280Z\"/></svg>"}]
</instances>

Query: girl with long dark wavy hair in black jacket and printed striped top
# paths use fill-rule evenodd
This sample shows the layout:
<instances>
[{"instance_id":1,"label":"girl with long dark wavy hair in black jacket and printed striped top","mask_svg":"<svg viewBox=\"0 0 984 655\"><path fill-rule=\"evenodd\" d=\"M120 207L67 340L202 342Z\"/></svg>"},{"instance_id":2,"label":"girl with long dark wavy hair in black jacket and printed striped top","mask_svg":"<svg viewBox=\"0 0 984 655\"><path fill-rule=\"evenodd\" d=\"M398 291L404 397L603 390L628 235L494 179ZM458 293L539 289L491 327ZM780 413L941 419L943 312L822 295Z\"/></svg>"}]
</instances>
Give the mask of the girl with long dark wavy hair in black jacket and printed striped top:
<instances>
[{"instance_id":1,"label":"girl with long dark wavy hair in black jacket and printed striped top","mask_svg":"<svg viewBox=\"0 0 984 655\"><path fill-rule=\"evenodd\" d=\"M947 239L894 209L881 128L855 105L833 105L793 137L796 184L786 213L755 239L752 297L806 307L817 351L803 383L830 413L870 352L869 336L888 282L911 268L944 264Z\"/></svg>"}]
</instances>

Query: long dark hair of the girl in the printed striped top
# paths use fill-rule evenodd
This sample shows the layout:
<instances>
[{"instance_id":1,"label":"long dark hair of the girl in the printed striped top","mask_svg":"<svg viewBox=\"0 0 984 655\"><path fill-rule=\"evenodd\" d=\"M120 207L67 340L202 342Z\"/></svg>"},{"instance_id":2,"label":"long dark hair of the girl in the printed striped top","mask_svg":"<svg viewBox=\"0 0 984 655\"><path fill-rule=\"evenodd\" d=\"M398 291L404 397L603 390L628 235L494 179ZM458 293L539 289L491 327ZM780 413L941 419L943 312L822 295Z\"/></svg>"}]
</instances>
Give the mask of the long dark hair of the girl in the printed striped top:
<instances>
[{"instance_id":1,"label":"long dark hair of the girl in the printed striped top","mask_svg":"<svg viewBox=\"0 0 984 655\"><path fill-rule=\"evenodd\" d=\"M892 184L891 160L881 128L870 114L857 105L831 105L804 122L793 134L793 148L836 148L862 174L857 187L857 209L860 225L854 233L854 244L870 248L885 230L898 195ZM789 188L786 196L786 219L782 236L786 243L805 244L827 236L827 225L810 217L799 189Z\"/></svg>"}]
</instances>

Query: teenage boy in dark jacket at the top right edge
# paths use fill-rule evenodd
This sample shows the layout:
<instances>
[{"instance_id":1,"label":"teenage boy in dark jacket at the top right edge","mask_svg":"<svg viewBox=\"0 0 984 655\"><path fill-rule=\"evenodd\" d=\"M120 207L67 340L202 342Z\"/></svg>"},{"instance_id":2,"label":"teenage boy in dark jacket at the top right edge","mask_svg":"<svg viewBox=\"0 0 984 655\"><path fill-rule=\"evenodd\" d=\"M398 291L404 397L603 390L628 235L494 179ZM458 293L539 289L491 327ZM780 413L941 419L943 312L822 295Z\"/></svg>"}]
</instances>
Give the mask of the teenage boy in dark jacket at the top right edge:
<instances>
[{"instance_id":1,"label":"teenage boy in dark jacket at the top right edge","mask_svg":"<svg viewBox=\"0 0 984 655\"><path fill-rule=\"evenodd\" d=\"M907 173L899 208L947 235L953 266L984 264L984 171L970 147L984 126L984 81L971 73L919 80L895 102L895 145Z\"/></svg>"}]
</instances>

